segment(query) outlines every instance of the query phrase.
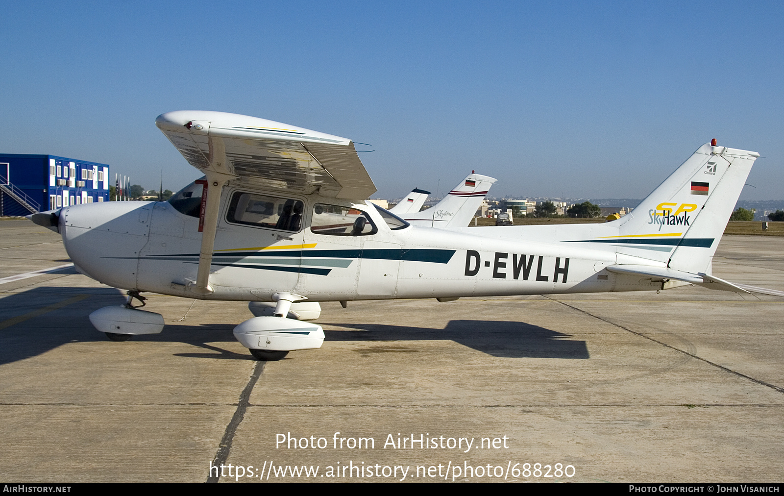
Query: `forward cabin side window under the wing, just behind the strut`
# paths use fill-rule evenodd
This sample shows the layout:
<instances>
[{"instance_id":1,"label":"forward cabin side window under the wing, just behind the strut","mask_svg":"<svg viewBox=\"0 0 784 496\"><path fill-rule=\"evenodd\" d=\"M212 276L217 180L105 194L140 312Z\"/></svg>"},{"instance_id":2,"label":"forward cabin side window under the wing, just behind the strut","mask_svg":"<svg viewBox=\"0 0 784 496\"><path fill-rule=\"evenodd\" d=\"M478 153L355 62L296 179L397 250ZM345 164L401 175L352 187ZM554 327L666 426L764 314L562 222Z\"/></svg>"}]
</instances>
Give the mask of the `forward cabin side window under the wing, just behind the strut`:
<instances>
[{"instance_id":1,"label":"forward cabin side window under the wing, just behind the strut","mask_svg":"<svg viewBox=\"0 0 784 496\"><path fill-rule=\"evenodd\" d=\"M231 197L227 221L260 228L299 231L305 204L296 199L275 198L237 191Z\"/></svg>"}]
</instances>

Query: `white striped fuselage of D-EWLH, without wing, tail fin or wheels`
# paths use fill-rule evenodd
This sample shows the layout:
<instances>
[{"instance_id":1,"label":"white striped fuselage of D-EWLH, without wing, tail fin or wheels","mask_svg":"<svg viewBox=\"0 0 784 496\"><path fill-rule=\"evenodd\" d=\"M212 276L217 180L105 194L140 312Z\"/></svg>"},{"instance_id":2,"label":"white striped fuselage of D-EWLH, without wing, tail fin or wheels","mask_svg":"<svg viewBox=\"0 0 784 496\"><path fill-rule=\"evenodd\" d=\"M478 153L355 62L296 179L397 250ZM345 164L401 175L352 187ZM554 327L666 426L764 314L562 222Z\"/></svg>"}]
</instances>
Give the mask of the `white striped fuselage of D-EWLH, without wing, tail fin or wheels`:
<instances>
[{"instance_id":1,"label":"white striped fuselage of D-EWLH, without wing, tail fin or wheels","mask_svg":"<svg viewBox=\"0 0 784 496\"><path fill-rule=\"evenodd\" d=\"M212 294L195 295L188 286L198 269L199 217L177 205L69 206L60 212L60 233L77 268L101 283L212 300L270 301L281 291L309 301L347 301L662 287L604 270L624 257L614 250L507 239L505 228L488 236L485 229L399 225L369 203L281 191L257 195L230 185L220 202ZM350 232L357 217L365 218L364 231Z\"/></svg>"}]
</instances>

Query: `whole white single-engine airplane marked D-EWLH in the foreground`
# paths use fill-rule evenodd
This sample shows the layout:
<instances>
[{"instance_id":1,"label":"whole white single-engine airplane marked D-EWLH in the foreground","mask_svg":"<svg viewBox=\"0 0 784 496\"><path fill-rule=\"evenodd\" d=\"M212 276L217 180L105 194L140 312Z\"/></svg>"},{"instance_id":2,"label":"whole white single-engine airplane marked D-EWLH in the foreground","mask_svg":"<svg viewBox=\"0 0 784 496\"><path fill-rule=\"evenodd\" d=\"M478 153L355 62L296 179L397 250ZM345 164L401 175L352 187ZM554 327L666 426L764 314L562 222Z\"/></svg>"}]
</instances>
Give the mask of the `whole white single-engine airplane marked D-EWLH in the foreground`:
<instances>
[{"instance_id":1,"label":"whole white single-engine airplane marked D-EWLH in the foreground","mask_svg":"<svg viewBox=\"0 0 784 496\"><path fill-rule=\"evenodd\" d=\"M173 111L156 125L204 179L168 202L87 203L32 216L60 232L79 272L128 290L122 307L90 315L116 341L161 332L161 315L132 306L142 292L250 301L262 316L234 335L262 360L321 347L321 326L303 322L318 317L318 301L689 283L748 292L711 275L711 259L759 154L715 140L617 221L434 229L365 201L376 187L351 140L214 111Z\"/></svg>"}]
</instances>

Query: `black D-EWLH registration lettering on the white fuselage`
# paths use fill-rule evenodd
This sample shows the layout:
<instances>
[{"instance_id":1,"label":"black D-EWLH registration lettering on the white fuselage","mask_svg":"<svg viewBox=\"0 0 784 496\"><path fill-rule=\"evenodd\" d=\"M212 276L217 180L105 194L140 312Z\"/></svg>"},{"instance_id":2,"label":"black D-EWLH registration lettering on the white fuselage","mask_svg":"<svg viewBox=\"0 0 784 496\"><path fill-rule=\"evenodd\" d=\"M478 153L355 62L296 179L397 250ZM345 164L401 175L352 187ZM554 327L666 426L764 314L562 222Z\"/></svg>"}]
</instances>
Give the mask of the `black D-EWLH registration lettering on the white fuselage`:
<instances>
[{"instance_id":1,"label":"black D-EWLH registration lettering on the white fuselage","mask_svg":"<svg viewBox=\"0 0 784 496\"><path fill-rule=\"evenodd\" d=\"M569 273L569 259L564 258L563 266L561 266L561 257L555 257L555 264L554 269L550 260L553 257L537 257L536 255L518 255L517 253L495 253L492 262L492 276L494 279L506 279L509 276L509 279L522 279L524 281L528 280L528 277L532 275L533 267L534 267L534 258L537 258L538 261L536 262L536 274L535 280L546 283L550 281L549 275L543 275L543 271L545 273L549 273L550 270L553 270L553 282L558 282L558 276L563 275L561 279L561 283L566 283L566 277ZM545 261L545 258L547 261ZM479 269L482 268L482 260L481 256L479 255L478 251L474 250L467 250L466 251L466 275L477 275L479 273ZM490 261L485 261L485 267L490 267Z\"/></svg>"}]
</instances>

